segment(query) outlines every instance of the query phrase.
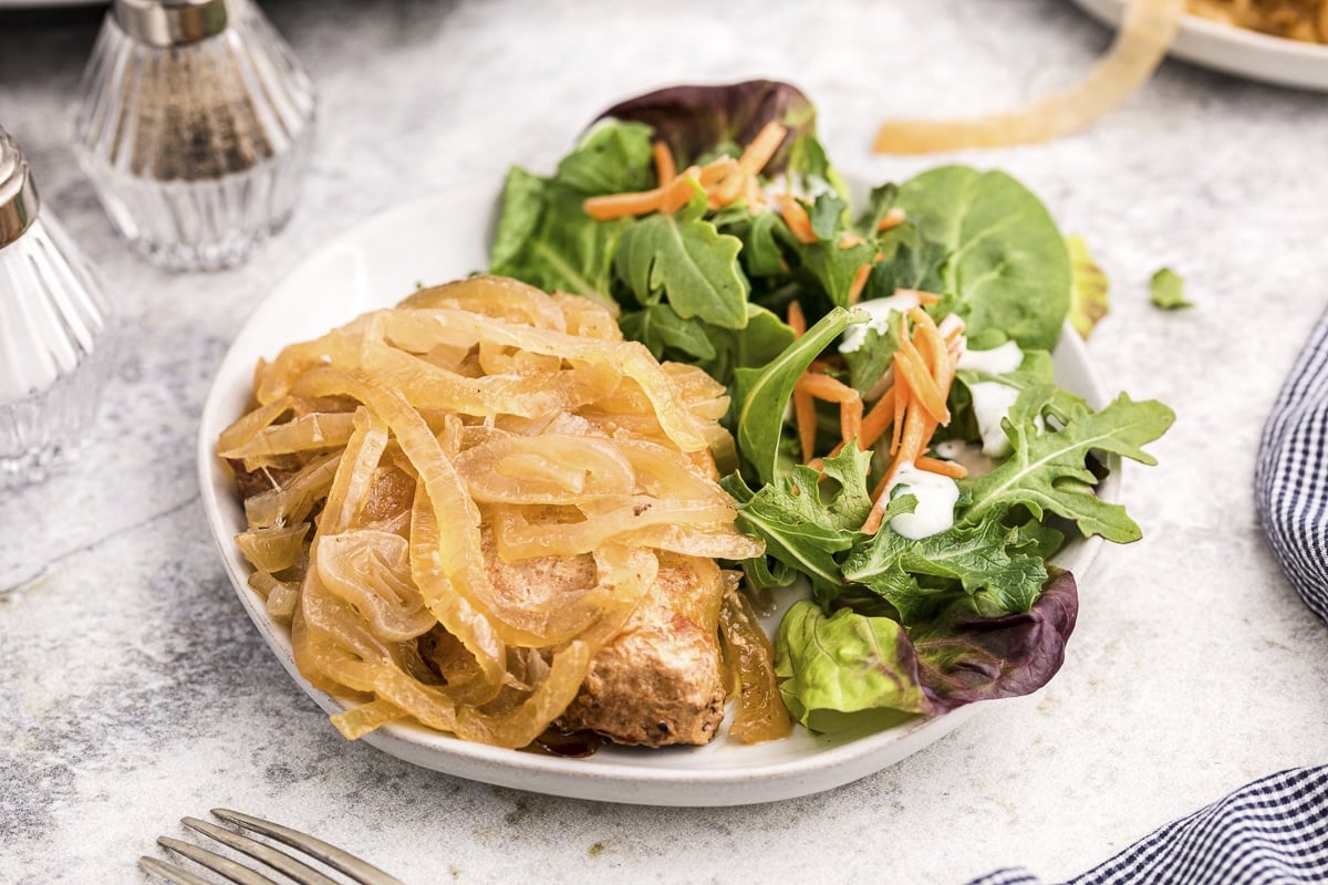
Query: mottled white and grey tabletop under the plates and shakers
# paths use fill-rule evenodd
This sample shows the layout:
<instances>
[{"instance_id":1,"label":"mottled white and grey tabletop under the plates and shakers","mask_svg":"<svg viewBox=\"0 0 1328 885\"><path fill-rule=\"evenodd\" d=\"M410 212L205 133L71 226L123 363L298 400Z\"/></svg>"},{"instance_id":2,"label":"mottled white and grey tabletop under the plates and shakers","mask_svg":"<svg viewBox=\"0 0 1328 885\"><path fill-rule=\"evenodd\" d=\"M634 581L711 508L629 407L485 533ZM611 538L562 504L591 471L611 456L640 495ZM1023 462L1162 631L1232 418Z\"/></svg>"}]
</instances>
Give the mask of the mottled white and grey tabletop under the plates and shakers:
<instances>
[{"instance_id":1,"label":"mottled white and grey tabletop under the plates and shakers","mask_svg":"<svg viewBox=\"0 0 1328 885\"><path fill-rule=\"evenodd\" d=\"M1167 64L1090 131L964 155L1033 187L1113 280L1090 352L1173 405L1126 476L1146 537L1084 582L1069 659L853 785L732 809L497 789L348 744L246 620L207 535L194 431L244 316L311 248L422 191L548 167L625 94L772 76L819 105L850 171L886 114L997 109L1082 73L1109 36L1066 0L268 0L323 96L293 224L248 265L167 276L127 255L64 125L96 17L0 16L0 125L101 264L131 334L94 444L0 496L0 881L139 882L178 819L248 809L409 882L961 882L1082 870L1236 785L1328 759L1328 630L1255 521L1263 418L1328 304L1328 96ZM1189 280L1161 313L1147 279Z\"/></svg>"}]
</instances>

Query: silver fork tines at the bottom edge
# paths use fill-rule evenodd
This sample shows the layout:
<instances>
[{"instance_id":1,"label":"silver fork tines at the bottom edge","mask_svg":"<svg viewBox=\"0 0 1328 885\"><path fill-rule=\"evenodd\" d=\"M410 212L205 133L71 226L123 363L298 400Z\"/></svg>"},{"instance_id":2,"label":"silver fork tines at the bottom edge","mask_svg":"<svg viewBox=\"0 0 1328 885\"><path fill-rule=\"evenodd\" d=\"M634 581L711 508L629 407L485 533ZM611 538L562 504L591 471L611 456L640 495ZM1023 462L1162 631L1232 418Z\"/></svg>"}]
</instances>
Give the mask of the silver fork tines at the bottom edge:
<instances>
[{"instance_id":1,"label":"silver fork tines at the bottom edge","mask_svg":"<svg viewBox=\"0 0 1328 885\"><path fill-rule=\"evenodd\" d=\"M388 876L377 866L364 862L355 854L344 852L336 845L329 845L321 839L315 839L313 836L291 829L290 827L282 827L280 824L274 824L272 821L254 817L251 815L243 815L238 811L228 811L226 808L214 808L212 815L230 824L255 833L262 833L263 836L268 836L270 839L275 839L279 843L284 843L291 848L304 852L307 856L320 860L333 869L341 870L353 881L360 882L360 885L405 885L401 880ZM260 843L256 839L236 833L232 829L218 827L216 824L210 824L206 820L199 820L197 817L185 817L181 823L223 845L228 845L240 853L248 854L260 864L267 865L270 869L275 869L296 882L300 882L300 885L341 885L337 880L328 877L325 873L313 869L304 861L296 860L267 843ZM214 873L218 873L227 881L236 882L238 885L278 885L274 878L268 878L267 876L258 873L243 864L206 848L199 848L191 843L171 839L170 836L161 836L157 840L157 844L175 852L177 854L190 858L195 864L199 864ZM149 873L159 876L167 882L175 882L177 885L212 885L212 882L198 876L197 873L191 873L174 864L167 864L157 857L139 857L138 865Z\"/></svg>"}]
</instances>

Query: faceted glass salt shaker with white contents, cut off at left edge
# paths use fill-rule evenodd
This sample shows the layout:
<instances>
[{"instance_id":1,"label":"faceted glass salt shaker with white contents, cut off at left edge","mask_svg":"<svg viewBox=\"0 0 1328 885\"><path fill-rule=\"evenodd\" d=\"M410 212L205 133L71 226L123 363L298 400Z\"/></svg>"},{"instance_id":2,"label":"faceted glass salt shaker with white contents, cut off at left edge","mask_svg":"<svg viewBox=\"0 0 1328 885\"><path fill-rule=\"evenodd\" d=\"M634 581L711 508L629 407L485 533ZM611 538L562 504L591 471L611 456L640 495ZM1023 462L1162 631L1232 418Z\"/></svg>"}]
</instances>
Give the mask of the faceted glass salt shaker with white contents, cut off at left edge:
<instances>
[{"instance_id":1,"label":"faceted glass salt shaker with white contents, cut off at left edge","mask_svg":"<svg viewBox=\"0 0 1328 885\"><path fill-rule=\"evenodd\" d=\"M0 129L0 488L44 478L88 438L113 358L109 306Z\"/></svg>"}]
</instances>

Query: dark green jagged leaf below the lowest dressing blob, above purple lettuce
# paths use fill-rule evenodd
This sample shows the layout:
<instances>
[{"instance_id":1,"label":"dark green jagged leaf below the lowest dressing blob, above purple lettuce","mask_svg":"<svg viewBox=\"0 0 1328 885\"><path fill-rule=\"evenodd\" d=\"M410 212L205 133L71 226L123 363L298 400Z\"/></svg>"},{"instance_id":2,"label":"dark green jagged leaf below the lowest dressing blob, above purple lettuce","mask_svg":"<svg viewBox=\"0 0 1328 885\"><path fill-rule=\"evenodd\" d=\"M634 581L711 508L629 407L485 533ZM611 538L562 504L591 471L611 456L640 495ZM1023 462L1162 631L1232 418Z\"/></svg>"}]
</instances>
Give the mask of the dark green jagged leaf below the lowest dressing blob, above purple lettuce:
<instances>
[{"instance_id":1,"label":"dark green jagged leaf below the lowest dressing blob, above purple lettuce","mask_svg":"<svg viewBox=\"0 0 1328 885\"><path fill-rule=\"evenodd\" d=\"M980 593L989 614L1027 612L1046 581L1042 560L1017 549L1027 543L996 513L976 525L955 525L920 540L891 531L887 523L854 548L843 576L884 597L904 624L916 621L938 597L952 596L955 589ZM948 584L923 586L918 575Z\"/></svg>"}]
</instances>

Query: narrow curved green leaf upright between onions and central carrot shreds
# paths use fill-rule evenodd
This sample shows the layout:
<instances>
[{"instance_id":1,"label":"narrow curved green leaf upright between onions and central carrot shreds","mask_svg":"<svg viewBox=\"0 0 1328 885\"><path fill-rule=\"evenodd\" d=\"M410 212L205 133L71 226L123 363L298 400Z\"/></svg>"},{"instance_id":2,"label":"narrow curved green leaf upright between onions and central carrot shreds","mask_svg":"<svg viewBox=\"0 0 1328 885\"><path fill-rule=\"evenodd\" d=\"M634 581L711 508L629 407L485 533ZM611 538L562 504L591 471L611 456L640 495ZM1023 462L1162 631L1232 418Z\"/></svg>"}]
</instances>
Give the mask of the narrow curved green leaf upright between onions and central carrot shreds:
<instances>
[{"instance_id":1,"label":"narrow curved green leaf upright between onions and central carrot shreds","mask_svg":"<svg viewBox=\"0 0 1328 885\"><path fill-rule=\"evenodd\" d=\"M834 308L764 368L733 372L738 451L762 483L772 482L780 472L777 455L784 409L798 377L850 322L863 318L851 317L843 308Z\"/></svg>"}]
</instances>

